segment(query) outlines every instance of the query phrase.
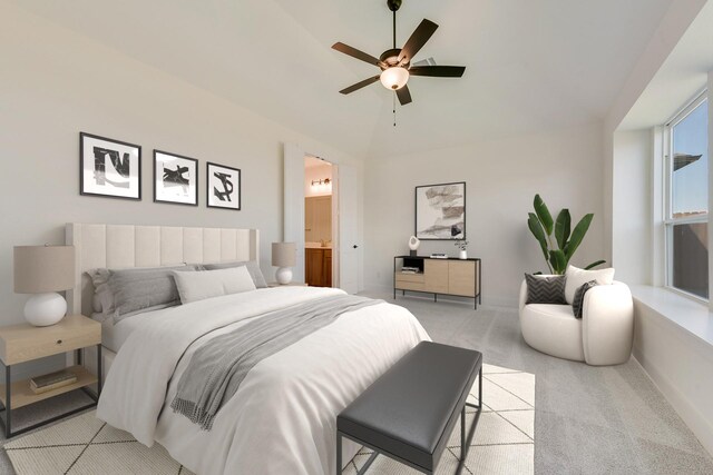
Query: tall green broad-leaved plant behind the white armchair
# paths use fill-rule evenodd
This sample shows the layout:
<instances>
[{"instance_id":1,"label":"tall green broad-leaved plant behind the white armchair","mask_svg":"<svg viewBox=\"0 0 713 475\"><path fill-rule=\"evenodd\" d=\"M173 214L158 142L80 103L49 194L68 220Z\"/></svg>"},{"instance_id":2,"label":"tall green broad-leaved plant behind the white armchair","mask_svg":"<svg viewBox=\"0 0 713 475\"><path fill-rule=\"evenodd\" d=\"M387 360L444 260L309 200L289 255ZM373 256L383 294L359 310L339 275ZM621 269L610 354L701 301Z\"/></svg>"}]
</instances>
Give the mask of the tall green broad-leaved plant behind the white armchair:
<instances>
[{"instance_id":1,"label":"tall green broad-leaved plant behind the white armchair","mask_svg":"<svg viewBox=\"0 0 713 475\"><path fill-rule=\"evenodd\" d=\"M594 214L589 212L577 222L570 230L572 217L569 210L564 208L557 215L557 220L553 220L553 216L547 209L547 205L539 195L535 195L534 201L535 212L529 212L527 226L533 236L539 243L543 256L547 263L550 274L563 275L567 270L569 259L582 244L584 236L589 229ZM553 241L553 231L555 240ZM555 247L555 244L557 247ZM597 260L589 264L585 269L592 269L606 263L606 260Z\"/></svg>"}]
</instances>

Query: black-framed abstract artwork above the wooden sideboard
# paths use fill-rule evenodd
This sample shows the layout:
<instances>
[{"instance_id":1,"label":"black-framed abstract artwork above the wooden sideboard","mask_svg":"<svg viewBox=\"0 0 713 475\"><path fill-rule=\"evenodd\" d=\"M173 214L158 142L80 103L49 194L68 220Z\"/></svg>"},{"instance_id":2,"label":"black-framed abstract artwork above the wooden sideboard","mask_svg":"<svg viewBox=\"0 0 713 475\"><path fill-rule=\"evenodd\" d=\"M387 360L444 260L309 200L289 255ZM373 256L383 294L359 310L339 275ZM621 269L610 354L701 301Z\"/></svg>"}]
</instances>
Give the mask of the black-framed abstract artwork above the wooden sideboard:
<instances>
[{"instance_id":1,"label":"black-framed abstract artwork above the wooden sideboard","mask_svg":"<svg viewBox=\"0 0 713 475\"><path fill-rule=\"evenodd\" d=\"M428 198L431 194L446 192L450 206L433 206ZM466 182L420 185L414 188L414 236L420 240L461 240L466 239ZM420 205L420 209L419 209ZM462 212L456 214L458 208ZM440 216L439 216L440 212ZM446 214L446 215L445 215ZM451 215L451 216L448 216ZM461 229L461 232L455 232Z\"/></svg>"}]
</instances>

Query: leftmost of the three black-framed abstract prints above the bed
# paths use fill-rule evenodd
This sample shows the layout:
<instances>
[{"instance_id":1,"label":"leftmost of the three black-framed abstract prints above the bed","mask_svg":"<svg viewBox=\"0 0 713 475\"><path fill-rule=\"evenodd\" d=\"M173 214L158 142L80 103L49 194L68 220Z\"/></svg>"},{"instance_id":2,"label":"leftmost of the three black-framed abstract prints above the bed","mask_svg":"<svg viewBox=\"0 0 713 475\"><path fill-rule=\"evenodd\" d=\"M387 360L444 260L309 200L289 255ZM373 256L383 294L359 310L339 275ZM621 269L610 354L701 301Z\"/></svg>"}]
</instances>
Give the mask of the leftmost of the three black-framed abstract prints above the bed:
<instances>
[{"instance_id":1,"label":"leftmost of the three black-framed abstract prints above the bed","mask_svg":"<svg viewBox=\"0 0 713 475\"><path fill-rule=\"evenodd\" d=\"M141 147L79 133L79 194L141 199Z\"/></svg>"}]
</instances>

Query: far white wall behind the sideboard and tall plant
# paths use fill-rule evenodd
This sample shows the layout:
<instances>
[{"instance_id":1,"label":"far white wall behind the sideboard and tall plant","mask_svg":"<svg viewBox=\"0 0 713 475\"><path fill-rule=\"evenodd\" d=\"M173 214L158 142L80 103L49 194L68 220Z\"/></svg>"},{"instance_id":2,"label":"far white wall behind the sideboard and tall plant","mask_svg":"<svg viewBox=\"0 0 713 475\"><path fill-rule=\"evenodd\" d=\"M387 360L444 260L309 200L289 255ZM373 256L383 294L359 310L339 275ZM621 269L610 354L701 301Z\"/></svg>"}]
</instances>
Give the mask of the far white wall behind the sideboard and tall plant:
<instances>
[{"instance_id":1,"label":"far white wall behind the sideboard and tall plant","mask_svg":"<svg viewBox=\"0 0 713 475\"><path fill-rule=\"evenodd\" d=\"M553 214L565 207L573 219L594 212L573 264L603 258L602 156L600 125L593 123L368 161L364 281L392 286L393 256L408 253L414 232L416 186L466 181L468 255L482 259L482 301L516 306L522 273L547 270L527 228L535 194ZM421 243L420 254L432 251L457 255L450 241Z\"/></svg>"}]
</instances>

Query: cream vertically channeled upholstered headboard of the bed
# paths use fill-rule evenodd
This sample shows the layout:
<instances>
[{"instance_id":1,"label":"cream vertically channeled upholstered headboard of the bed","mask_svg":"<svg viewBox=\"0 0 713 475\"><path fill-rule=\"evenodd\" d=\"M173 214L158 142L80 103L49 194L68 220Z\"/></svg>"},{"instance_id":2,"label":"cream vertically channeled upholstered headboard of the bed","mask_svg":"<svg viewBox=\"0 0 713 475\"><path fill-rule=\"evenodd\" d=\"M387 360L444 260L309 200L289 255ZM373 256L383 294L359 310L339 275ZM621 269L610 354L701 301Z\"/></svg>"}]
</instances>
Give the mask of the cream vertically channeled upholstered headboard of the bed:
<instances>
[{"instance_id":1,"label":"cream vertically channeled upholstered headboard of the bed","mask_svg":"<svg viewBox=\"0 0 713 475\"><path fill-rule=\"evenodd\" d=\"M91 279L98 267L158 267L183 263L258 260L257 229L182 228L67 224L66 243L75 246L75 287L67 291L68 313L91 315Z\"/></svg>"}]
</instances>

